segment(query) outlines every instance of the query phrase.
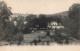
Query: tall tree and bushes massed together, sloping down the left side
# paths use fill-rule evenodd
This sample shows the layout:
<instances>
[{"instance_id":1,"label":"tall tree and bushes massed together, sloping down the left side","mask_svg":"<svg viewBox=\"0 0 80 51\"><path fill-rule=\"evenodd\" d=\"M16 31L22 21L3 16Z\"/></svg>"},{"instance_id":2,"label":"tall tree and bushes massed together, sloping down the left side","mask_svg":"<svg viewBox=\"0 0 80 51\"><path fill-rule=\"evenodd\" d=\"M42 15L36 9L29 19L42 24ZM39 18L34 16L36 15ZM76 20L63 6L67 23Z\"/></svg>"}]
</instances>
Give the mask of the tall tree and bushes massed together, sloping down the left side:
<instances>
[{"instance_id":1,"label":"tall tree and bushes massed together, sloping down the left side","mask_svg":"<svg viewBox=\"0 0 80 51\"><path fill-rule=\"evenodd\" d=\"M19 33L18 27L9 21L11 10L4 1L0 2L0 40L22 41L23 34Z\"/></svg>"}]
</instances>

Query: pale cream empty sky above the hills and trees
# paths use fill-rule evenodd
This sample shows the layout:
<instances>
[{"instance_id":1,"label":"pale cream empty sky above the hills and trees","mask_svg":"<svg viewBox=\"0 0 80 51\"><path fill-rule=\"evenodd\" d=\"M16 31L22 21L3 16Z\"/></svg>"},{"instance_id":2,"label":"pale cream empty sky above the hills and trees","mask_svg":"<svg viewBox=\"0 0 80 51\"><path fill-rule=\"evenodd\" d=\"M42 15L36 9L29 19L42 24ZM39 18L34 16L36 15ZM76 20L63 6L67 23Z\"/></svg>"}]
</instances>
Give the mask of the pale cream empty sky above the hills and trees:
<instances>
[{"instance_id":1,"label":"pale cream empty sky above the hills and trees","mask_svg":"<svg viewBox=\"0 0 80 51\"><path fill-rule=\"evenodd\" d=\"M13 13L54 14L68 11L73 3L80 0L4 0Z\"/></svg>"}]
</instances>

